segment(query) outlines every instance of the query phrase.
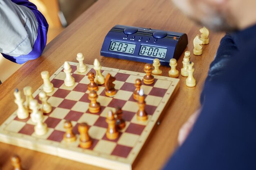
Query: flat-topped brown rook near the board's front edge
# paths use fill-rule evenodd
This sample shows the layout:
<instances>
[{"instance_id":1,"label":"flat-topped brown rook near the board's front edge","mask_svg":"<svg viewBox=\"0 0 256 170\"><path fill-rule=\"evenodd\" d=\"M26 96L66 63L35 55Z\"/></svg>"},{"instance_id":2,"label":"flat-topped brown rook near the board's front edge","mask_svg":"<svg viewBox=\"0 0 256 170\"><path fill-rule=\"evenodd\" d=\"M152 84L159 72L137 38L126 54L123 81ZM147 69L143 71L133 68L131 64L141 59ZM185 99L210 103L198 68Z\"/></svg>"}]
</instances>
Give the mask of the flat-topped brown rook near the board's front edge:
<instances>
[{"instance_id":1,"label":"flat-topped brown rook near the board's front edge","mask_svg":"<svg viewBox=\"0 0 256 170\"><path fill-rule=\"evenodd\" d=\"M88 125L86 123L81 123L78 125L78 131L80 133L80 144L81 148L90 148L92 146L92 139L88 134Z\"/></svg>"}]
</instances>

